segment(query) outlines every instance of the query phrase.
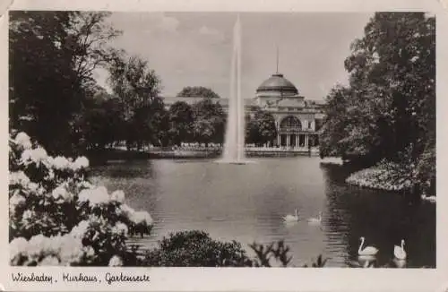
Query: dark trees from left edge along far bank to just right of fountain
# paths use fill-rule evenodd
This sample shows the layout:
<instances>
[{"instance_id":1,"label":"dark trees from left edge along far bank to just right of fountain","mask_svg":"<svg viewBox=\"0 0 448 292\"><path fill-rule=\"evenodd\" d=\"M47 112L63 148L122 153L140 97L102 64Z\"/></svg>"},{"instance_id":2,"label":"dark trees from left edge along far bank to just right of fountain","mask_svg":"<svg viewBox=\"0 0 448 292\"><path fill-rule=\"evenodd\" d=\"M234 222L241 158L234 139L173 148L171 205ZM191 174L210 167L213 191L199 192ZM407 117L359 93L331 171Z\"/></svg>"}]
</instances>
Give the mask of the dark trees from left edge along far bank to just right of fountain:
<instances>
[{"instance_id":1,"label":"dark trees from left edge along far bank to just right of fountain","mask_svg":"<svg viewBox=\"0 0 448 292\"><path fill-rule=\"evenodd\" d=\"M166 108L161 81L148 61L110 45L122 31L110 13L12 12L9 52L10 129L29 133L51 154L75 155L116 142L143 145L224 141L227 115L220 96L201 86L181 97L202 97ZM94 78L108 72L112 92ZM246 142L263 144L276 136L271 114L256 108L246 116Z\"/></svg>"}]
</instances>

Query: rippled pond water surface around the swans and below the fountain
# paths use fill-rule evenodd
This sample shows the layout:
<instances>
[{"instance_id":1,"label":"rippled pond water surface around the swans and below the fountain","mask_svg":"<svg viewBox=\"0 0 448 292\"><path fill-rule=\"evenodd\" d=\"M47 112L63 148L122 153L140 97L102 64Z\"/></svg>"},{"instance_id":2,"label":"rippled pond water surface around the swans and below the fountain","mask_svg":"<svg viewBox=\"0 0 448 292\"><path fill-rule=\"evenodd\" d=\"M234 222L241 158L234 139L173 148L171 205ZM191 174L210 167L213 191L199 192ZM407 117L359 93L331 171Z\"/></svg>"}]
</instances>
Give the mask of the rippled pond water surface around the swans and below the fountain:
<instances>
[{"instance_id":1,"label":"rippled pond water surface around the swans and below the fountain","mask_svg":"<svg viewBox=\"0 0 448 292\"><path fill-rule=\"evenodd\" d=\"M284 240L295 266L323 254L326 266L346 267L358 260L360 236L379 249L380 265L392 262L393 245L404 239L407 267L435 267L435 204L409 205L399 193L347 185L347 167L324 165L316 157L254 162L111 162L94 167L92 179L109 191L125 191L131 207L150 212L154 228L139 239L143 245L155 245L171 232L201 229L214 239L235 239L248 251L254 241ZM300 220L285 223L283 217L296 208ZM320 211L321 224L308 224Z\"/></svg>"}]
</instances>

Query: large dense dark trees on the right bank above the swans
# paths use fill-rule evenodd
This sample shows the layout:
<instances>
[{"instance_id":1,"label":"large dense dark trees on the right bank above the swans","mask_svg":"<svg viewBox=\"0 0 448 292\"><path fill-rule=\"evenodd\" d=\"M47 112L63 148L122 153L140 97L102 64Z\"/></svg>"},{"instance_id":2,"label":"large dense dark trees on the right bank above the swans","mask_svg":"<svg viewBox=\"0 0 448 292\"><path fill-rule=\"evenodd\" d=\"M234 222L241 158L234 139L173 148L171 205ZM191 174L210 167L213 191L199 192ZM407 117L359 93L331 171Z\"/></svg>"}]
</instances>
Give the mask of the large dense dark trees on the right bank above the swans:
<instances>
[{"instance_id":1,"label":"large dense dark trees on the right bank above the swans","mask_svg":"<svg viewBox=\"0 0 448 292\"><path fill-rule=\"evenodd\" d=\"M382 159L435 181L435 17L375 13L327 97L321 156Z\"/></svg>"}]
</instances>

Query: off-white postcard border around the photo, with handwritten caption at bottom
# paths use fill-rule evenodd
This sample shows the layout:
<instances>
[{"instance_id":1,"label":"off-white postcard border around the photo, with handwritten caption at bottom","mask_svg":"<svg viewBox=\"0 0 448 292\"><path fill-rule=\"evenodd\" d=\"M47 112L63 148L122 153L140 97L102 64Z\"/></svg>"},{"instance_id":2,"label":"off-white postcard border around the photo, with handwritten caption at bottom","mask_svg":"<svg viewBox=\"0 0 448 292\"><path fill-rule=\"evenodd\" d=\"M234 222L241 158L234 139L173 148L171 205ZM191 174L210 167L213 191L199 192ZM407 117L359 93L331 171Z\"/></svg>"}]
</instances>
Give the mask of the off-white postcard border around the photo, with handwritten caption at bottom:
<instances>
[{"instance_id":1,"label":"off-white postcard border around the photo, with handwritten caption at bottom","mask_svg":"<svg viewBox=\"0 0 448 292\"><path fill-rule=\"evenodd\" d=\"M448 159L444 150L448 149L448 11L438 1L419 0L265 0L265 1L217 1L217 0L171 0L171 1L15 1L9 9L13 10L109 10L109 11L241 11L241 12L374 12L374 11L429 11L436 14L437 39L437 268L426 269L244 269L244 268L22 268L10 267L8 257L8 201L7 201L7 150L2 145L1 186L4 190L0 205L0 232L4 241L0 245L0 288L6 291L448 291L448 183L444 179L448 173ZM0 107L3 141L8 137L8 58L7 58L7 15L0 19L0 93L3 105ZM445 195L446 194L446 195ZM16 271L45 271L57 279L53 285L13 282L11 273ZM73 283L62 281L64 272L91 273L102 279L101 283ZM106 274L147 274L150 282L115 283L108 285ZM1 290L1 289L0 289Z\"/></svg>"}]
</instances>

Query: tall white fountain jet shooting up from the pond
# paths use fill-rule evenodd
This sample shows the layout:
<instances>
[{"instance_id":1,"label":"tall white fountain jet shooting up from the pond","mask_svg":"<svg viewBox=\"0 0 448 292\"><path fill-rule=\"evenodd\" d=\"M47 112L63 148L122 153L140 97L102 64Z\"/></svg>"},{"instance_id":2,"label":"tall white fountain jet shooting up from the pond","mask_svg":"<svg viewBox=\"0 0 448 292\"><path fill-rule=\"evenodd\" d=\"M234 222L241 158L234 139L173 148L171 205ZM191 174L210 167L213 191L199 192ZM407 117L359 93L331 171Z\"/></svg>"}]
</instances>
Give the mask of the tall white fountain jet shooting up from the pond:
<instances>
[{"instance_id":1,"label":"tall white fountain jet shooting up from the pond","mask_svg":"<svg viewBox=\"0 0 448 292\"><path fill-rule=\"evenodd\" d=\"M246 164L245 105L241 97L241 24L239 16L234 28L228 119L222 159L219 162Z\"/></svg>"}]
</instances>

